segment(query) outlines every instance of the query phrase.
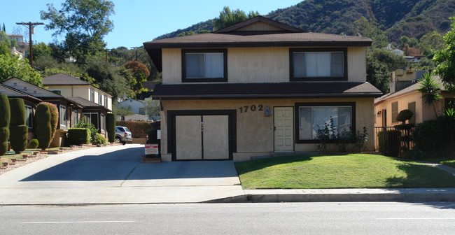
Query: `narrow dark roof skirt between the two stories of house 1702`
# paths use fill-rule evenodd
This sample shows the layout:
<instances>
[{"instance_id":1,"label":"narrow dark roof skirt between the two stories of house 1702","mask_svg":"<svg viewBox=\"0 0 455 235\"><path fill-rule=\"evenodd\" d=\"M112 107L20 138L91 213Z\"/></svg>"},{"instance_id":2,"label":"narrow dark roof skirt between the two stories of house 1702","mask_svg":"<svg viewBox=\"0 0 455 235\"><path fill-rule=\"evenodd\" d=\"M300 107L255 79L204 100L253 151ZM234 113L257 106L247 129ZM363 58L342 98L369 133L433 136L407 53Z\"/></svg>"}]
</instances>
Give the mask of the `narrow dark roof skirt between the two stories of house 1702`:
<instances>
[{"instance_id":1,"label":"narrow dark roof skirt between the two stories of house 1702","mask_svg":"<svg viewBox=\"0 0 455 235\"><path fill-rule=\"evenodd\" d=\"M157 84L153 99L244 99L295 97L379 97L367 82Z\"/></svg>"}]
</instances>

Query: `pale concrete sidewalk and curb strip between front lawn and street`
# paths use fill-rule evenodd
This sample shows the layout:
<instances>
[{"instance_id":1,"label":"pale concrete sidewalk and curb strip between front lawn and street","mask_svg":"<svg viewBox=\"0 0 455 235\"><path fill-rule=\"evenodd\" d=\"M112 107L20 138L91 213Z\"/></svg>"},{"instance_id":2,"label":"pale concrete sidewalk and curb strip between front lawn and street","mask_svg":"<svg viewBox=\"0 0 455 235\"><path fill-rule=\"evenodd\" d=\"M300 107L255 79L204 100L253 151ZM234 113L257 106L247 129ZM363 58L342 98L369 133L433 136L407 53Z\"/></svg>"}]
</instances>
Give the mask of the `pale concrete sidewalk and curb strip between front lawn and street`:
<instances>
[{"instance_id":1,"label":"pale concrete sidewalk and curb strip between front lawn and street","mask_svg":"<svg viewBox=\"0 0 455 235\"><path fill-rule=\"evenodd\" d=\"M455 201L455 189L450 188L244 191L244 195L225 197L205 202Z\"/></svg>"}]
</instances>

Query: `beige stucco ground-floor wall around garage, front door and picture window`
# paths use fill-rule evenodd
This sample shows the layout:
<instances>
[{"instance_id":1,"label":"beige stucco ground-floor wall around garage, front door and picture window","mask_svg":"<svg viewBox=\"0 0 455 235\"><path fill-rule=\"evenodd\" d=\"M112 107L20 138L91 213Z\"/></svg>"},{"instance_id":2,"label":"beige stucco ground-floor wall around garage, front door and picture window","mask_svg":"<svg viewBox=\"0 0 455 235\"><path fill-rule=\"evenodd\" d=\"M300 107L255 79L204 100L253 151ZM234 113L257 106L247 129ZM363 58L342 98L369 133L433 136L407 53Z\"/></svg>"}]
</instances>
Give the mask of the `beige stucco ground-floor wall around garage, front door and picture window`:
<instances>
[{"instance_id":1,"label":"beige stucco ground-floor wall around garage, front door and picture window","mask_svg":"<svg viewBox=\"0 0 455 235\"><path fill-rule=\"evenodd\" d=\"M234 160L251 159L251 156L268 155L274 152L274 107L294 107L296 102L356 102L356 128L361 131L367 127L371 134L374 127L373 98L360 99L235 99L235 100L163 100L161 112L161 152L163 159L170 159L167 154L167 111L179 110L236 110L237 111L237 152ZM271 115L265 117L264 111L240 113L243 106L269 106ZM294 122L295 124L295 122ZM372 139L372 138L371 138ZM374 143L367 143L367 150L373 150ZM314 143L297 143L295 151L315 151ZM332 148L337 150L337 148Z\"/></svg>"}]
</instances>

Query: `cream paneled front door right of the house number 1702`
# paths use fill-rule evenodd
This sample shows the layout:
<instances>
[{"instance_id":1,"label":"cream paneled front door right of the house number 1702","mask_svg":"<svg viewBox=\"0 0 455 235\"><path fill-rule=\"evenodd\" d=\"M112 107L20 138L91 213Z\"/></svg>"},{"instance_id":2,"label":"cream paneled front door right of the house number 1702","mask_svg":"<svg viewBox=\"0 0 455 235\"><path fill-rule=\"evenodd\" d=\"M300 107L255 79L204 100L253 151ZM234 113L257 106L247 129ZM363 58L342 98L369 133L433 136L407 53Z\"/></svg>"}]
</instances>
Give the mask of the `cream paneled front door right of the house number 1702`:
<instances>
[{"instance_id":1,"label":"cream paneled front door right of the house number 1702","mask_svg":"<svg viewBox=\"0 0 455 235\"><path fill-rule=\"evenodd\" d=\"M274 107L275 152L294 150L293 107Z\"/></svg>"}]
</instances>

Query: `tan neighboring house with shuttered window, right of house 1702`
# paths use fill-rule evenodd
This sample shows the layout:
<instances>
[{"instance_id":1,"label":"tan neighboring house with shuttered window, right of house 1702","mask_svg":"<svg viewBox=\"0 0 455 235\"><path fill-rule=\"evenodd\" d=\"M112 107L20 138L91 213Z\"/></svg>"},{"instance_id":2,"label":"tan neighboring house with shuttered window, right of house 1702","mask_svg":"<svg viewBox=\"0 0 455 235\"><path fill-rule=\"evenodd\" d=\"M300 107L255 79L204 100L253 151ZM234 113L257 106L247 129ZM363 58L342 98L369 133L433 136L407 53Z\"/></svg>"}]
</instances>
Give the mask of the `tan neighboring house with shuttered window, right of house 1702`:
<instances>
[{"instance_id":1,"label":"tan neighboring house with shuttered window, right of house 1702","mask_svg":"<svg viewBox=\"0 0 455 235\"><path fill-rule=\"evenodd\" d=\"M435 104L438 115L441 115L448 106L449 101L454 101L454 95L444 89L439 77L435 78L442 90L441 96L443 99ZM414 113L414 117L409 120L409 123L416 124L435 118L433 106L428 107L422 103L422 94L417 91L419 87L421 87L420 83L417 83L414 80L412 85L409 85L402 90L395 92L392 90L391 93L384 94L384 96L375 99L374 113L376 113L376 118L374 118L374 126L393 127L396 124L400 124L396 120L396 117L398 113L404 109L409 109Z\"/></svg>"}]
</instances>

